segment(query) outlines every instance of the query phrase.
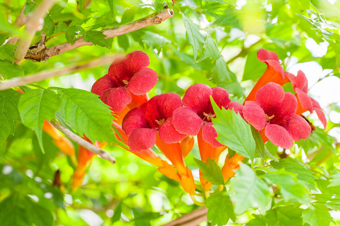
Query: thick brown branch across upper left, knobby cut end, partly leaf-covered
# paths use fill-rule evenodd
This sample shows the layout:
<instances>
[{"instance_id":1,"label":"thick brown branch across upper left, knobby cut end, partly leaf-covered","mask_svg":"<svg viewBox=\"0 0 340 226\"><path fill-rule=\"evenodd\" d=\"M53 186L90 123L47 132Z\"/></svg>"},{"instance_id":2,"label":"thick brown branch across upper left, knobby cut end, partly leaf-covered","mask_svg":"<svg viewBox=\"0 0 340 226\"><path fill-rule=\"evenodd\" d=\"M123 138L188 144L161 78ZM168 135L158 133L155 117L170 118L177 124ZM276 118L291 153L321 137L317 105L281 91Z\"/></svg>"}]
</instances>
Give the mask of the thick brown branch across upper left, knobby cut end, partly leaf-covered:
<instances>
[{"instance_id":1,"label":"thick brown branch across upper left, knobby cut end, partly leaf-covered","mask_svg":"<svg viewBox=\"0 0 340 226\"><path fill-rule=\"evenodd\" d=\"M174 16L174 12L170 9L164 9L157 13L153 13L149 16L143 17L138 20L134 20L130 23L122 24L116 27L112 27L109 29L102 30L103 34L106 36L105 39L116 37L119 35L123 35L129 32L136 31L138 29L141 29L146 26L150 26L152 24L160 24L164 20L169 19ZM80 36L74 41L74 44L71 45L69 42L61 43L58 45L54 45L50 48L41 50L40 52L33 52L28 53L26 55L26 59L33 60L33 61L43 61L47 60L48 58L52 56L56 56L59 54L62 54L66 51L76 49L81 46L85 45L92 45L92 42L85 42L83 39L83 36Z\"/></svg>"}]
</instances>

